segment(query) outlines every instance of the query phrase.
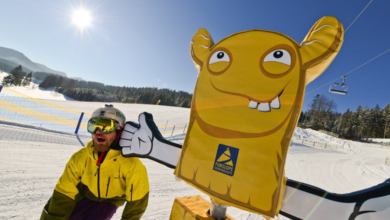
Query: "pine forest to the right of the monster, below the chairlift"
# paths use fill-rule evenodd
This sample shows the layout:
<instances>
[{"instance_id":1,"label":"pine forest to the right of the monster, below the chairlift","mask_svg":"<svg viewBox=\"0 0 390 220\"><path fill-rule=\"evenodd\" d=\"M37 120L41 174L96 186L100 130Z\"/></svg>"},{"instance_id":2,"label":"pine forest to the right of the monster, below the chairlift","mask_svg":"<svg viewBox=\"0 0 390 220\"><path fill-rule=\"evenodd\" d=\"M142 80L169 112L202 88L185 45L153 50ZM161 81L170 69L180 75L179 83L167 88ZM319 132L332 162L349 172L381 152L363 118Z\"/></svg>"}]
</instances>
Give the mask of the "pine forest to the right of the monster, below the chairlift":
<instances>
[{"instance_id":1,"label":"pine forest to the right of the monster, below the chairlift","mask_svg":"<svg viewBox=\"0 0 390 220\"><path fill-rule=\"evenodd\" d=\"M341 138L359 141L390 137L390 103L384 108L377 104L373 108L358 106L355 111L347 109L342 114L335 109L333 100L317 94L311 100L310 108L301 112L298 126L327 130L339 134Z\"/></svg>"}]
</instances>

